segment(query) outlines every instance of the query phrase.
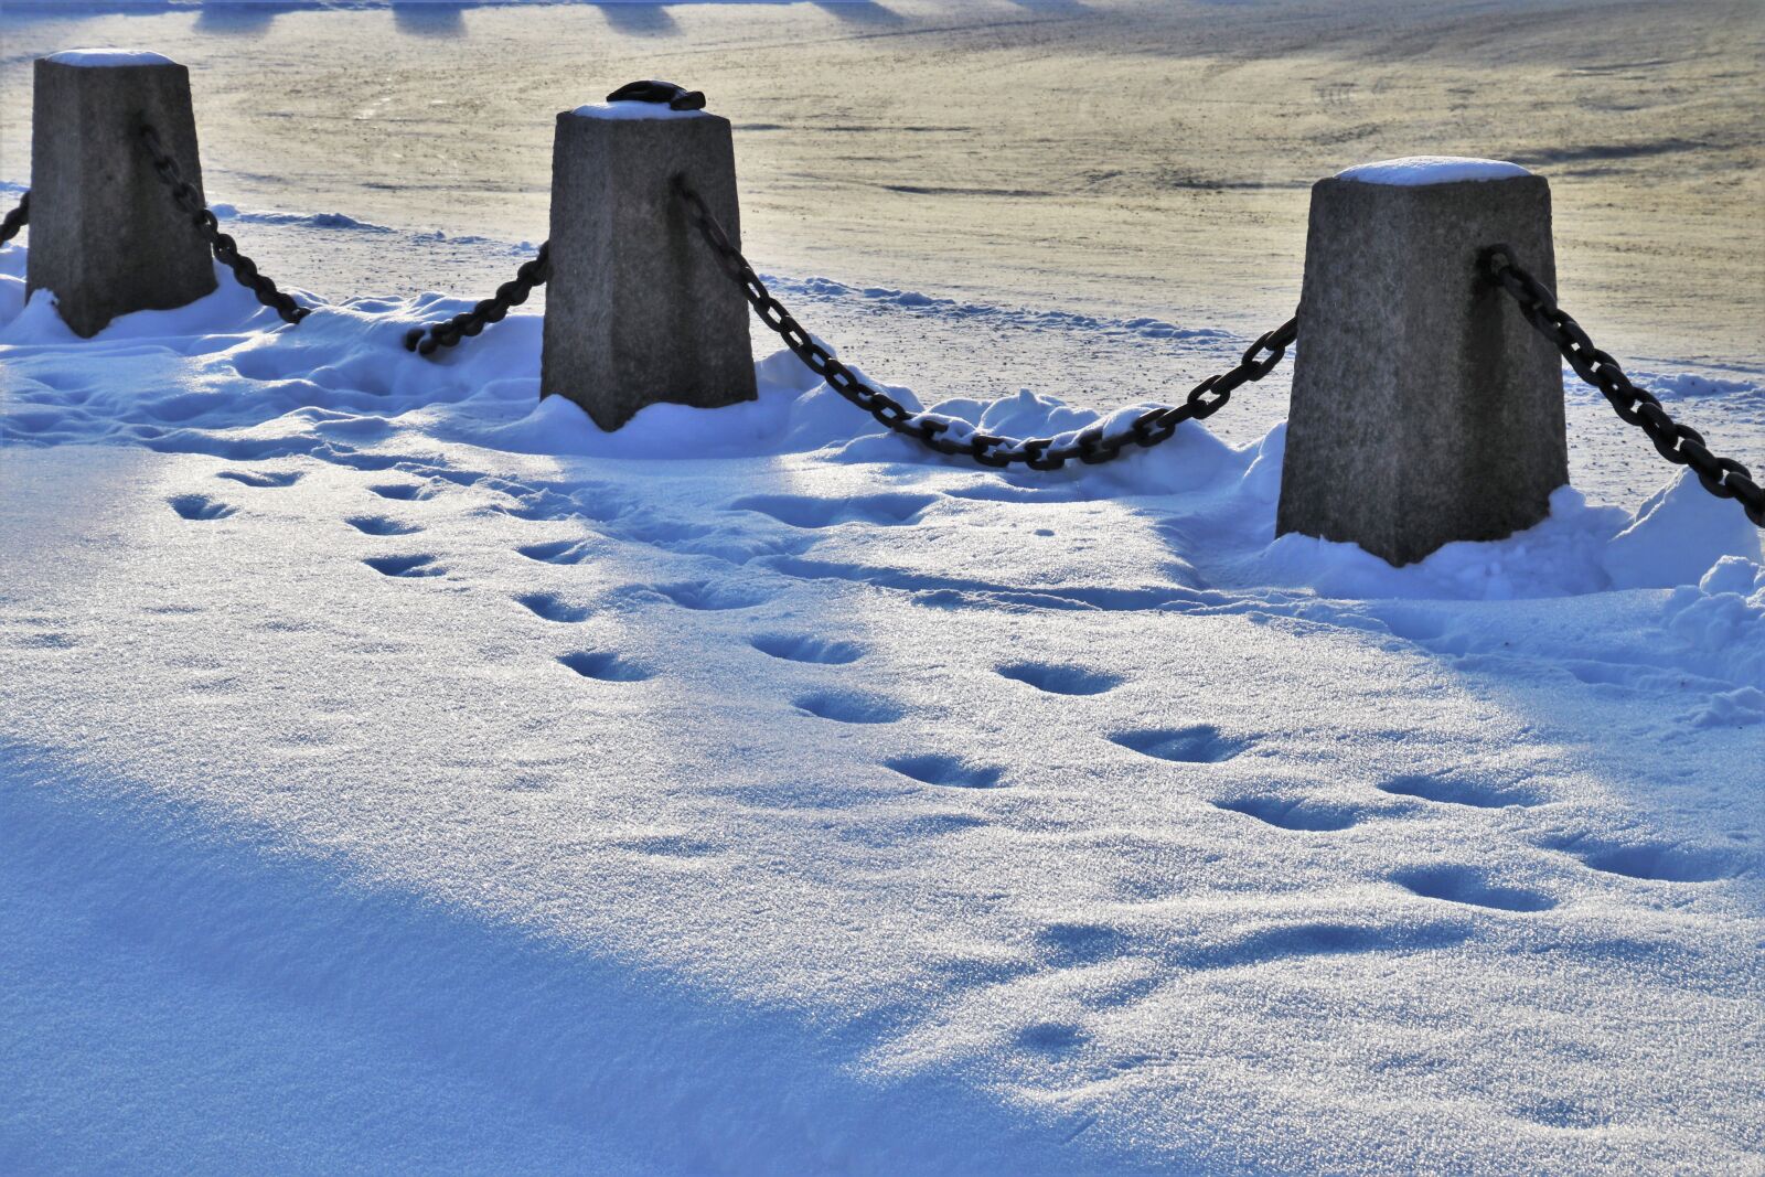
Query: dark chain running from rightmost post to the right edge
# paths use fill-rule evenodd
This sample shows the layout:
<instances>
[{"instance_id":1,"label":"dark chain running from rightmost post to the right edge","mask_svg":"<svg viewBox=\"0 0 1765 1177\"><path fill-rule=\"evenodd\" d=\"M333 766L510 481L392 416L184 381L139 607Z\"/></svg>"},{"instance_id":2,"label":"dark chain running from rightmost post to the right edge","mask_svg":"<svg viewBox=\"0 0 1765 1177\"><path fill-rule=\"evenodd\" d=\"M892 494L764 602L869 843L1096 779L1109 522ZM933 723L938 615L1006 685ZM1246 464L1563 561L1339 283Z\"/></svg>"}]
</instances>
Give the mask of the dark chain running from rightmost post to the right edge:
<instances>
[{"instance_id":1,"label":"dark chain running from rightmost post to the right edge","mask_svg":"<svg viewBox=\"0 0 1765 1177\"><path fill-rule=\"evenodd\" d=\"M1520 314L1557 344L1574 374L1597 388L1620 418L1649 434L1661 457L1689 466L1705 491L1719 499L1737 499L1747 519L1765 528L1765 491L1753 482L1753 471L1731 457L1710 454L1703 434L1675 422L1654 394L1633 385L1619 362L1596 348L1581 325L1557 305L1557 295L1514 259L1513 249L1491 245L1484 251L1484 265L1490 277L1520 304Z\"/></svg>"}]
</instances>

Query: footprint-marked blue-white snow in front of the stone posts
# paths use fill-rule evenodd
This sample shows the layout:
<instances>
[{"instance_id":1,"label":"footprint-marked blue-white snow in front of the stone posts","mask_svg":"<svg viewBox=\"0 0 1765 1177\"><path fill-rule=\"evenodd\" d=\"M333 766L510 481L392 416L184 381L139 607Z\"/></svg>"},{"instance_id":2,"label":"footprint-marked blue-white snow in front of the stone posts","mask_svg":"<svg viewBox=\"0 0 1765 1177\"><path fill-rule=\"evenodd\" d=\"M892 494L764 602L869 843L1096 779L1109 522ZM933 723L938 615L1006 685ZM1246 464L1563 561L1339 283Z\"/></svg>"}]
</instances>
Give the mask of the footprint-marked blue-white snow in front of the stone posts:
<instances>
[{"instance_id":1,"label":"footprint-marked blue-white snow in front of the stone posts","mask_svg":"<svg viewBox=\"0 0 1765 1177\"><path fill-rule=\"evenodd\" d=\"M5 1172L1756 1166L1733 503L1393 570L1280 427L1001 475L778 355L605 436L535 316L0 270Z\"/></svg>"}]
</instances>

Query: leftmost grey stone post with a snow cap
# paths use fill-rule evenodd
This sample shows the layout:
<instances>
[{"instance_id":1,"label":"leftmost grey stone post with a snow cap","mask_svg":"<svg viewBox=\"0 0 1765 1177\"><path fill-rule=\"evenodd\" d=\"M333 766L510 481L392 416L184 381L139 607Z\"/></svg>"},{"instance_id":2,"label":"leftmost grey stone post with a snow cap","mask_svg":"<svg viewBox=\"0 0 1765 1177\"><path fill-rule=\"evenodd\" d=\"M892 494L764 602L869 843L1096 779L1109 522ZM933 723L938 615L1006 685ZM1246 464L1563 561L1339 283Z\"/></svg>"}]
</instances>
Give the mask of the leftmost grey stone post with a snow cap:
<instances>
[{"instance_id":1,"label":"leftmost grey stone post with a snow cap","mask_svg":"<svg viewBox=\"0 0 1765 1177\"><path fill-rule=\"evenodd\" d=\"M124 49L37 58L32 120L26 291L53 291L62 319L83 337L118 314L182 307L214 291L208 244L139 141L150 122L201 191L187 69Z\"/></svg>"}]
</instances>

